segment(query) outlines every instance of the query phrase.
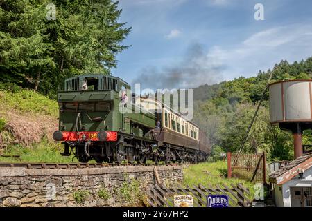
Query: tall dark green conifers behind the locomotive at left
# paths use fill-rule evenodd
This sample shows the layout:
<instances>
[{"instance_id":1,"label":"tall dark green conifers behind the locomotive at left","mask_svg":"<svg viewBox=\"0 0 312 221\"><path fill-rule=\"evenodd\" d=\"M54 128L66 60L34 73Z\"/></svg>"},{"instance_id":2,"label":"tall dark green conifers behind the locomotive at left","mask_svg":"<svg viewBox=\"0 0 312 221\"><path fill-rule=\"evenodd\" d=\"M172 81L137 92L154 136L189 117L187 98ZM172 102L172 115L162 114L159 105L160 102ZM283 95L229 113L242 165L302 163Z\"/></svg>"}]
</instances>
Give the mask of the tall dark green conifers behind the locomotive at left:
<instances>
[{"instance_id":1,"label":"tall dark green conifers behind the locomotive at left","mask_svg":"<svg viewBox=\"0 0 312 221\"><path fill-rule=\"evenodd\" d=\"M55 19L47 19L48 4ZM112 0L0 1L1 87L55 97L67 77L110 73L131 30L120 15Z\"/></svg>"}]
</instances>

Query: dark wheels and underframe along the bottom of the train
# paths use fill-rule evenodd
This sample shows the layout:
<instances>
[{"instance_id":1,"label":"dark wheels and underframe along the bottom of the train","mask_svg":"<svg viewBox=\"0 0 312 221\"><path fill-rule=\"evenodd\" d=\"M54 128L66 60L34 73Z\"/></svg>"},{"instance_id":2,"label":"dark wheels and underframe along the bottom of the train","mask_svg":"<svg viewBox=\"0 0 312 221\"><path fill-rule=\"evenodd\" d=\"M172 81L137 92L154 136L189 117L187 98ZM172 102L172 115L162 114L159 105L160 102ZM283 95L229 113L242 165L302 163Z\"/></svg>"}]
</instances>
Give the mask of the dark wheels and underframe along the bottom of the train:
<instances>
[{"instance_id":1,"label":"dark wheels and underframe along the bottom of the train","mask_svg":"<svg viewBox=\"0 0 312 221\"><path fill-rule=\"evenodd\" d=\"M63 142L63 144L64 153L62 155L69 156L73 153L79 162L95 160L98 163L146 164L153 161L155 164L160 162L169 164L171 162L197 163L207 160L207 153L191 146L177 146L124 133L119 133L116 142L78 140L76 142Z\"/></svg>"}]
</instances>

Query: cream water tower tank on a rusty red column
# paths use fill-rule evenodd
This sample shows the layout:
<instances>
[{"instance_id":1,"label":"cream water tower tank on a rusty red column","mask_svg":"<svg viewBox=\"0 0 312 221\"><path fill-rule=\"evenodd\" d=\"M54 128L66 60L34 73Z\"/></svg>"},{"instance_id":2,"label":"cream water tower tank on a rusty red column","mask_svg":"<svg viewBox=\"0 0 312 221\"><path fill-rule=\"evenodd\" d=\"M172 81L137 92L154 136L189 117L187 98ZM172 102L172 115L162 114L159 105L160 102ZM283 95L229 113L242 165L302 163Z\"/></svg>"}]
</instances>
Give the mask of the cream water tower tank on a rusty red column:
<instances>
[{"instance_id":1,"label":"cream water tower tank on a rusty red column","mask_svg":"<svg viewBox=\"0 0 312 221\"><path fill-rule=\"evenodd\" d=\"M293 133L295 158L303 154L302 132L312 128L312 80L277 81L269 85L270 123Z\"/></svg>"}]
</instances>

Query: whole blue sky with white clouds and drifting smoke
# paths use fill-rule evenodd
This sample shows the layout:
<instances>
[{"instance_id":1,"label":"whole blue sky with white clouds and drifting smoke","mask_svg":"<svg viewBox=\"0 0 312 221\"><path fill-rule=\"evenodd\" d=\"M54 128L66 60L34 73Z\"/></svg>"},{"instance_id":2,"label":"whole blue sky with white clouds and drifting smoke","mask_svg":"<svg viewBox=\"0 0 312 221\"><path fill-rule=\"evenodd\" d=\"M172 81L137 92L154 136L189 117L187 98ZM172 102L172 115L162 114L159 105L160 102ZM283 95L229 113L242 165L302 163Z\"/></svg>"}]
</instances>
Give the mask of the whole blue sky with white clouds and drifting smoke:
<instances>
[{"instance_id":1,"label":"whole blue sky with white clouds and drifting smoke","mask_svg":"<svg viewBox=\"0 0 312 221\"><path fill-rule=\"evenodd\" d=\"M312 56L311 0L119 0L119 8L132 31L112 74L141 88L196 88Z\"/></svg>"}]
</instances>

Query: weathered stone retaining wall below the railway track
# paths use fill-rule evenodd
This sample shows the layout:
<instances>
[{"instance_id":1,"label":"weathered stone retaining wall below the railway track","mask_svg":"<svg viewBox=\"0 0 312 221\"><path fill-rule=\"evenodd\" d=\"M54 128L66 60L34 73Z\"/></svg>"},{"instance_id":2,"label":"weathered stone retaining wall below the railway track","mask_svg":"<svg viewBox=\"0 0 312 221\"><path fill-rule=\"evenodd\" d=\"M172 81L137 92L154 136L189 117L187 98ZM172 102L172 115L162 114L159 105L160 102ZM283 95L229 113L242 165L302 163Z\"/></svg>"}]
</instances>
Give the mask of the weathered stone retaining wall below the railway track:
<instances>
[{"instance_id":1,"label":"weathered stone retaining wall below the railway track","mask_svg":"<svg viewBox=\"0 0 312 221\"><path fill-rule=\"evenodd\" d=\"M162 182L180 182L182 166L157 166ZM155 183L153 166L88 169L0 168L0 206L140 206ZM142 201L143 199L143 201Z\"/></svg>"}]
</instances>

